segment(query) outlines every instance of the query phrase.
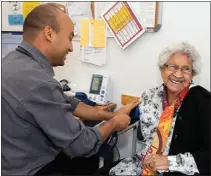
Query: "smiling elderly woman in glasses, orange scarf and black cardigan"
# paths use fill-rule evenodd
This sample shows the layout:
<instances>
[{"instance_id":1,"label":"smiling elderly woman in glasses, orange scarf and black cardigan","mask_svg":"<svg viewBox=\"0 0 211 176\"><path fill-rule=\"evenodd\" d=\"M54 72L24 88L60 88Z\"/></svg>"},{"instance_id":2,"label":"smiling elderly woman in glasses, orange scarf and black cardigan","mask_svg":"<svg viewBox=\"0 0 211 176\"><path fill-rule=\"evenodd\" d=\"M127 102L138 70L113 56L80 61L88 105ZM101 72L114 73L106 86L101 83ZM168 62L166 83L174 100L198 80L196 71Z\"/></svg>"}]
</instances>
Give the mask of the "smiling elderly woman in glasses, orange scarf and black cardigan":
<instances>
[{"instance_id":1,"label":"smiling elderly woman in glasses, orange scarf and black cardigan","mask_svg":"<svg viewBox=\"0 0 211 176\"><path fill-rule=\"evenodd\" d=\"M144 92L139 105L142 150L109 175L210 175L211 94L192 85L199 63L198 52L185 42L161 52L163 84Z\"/></svg>"}]
</instances>

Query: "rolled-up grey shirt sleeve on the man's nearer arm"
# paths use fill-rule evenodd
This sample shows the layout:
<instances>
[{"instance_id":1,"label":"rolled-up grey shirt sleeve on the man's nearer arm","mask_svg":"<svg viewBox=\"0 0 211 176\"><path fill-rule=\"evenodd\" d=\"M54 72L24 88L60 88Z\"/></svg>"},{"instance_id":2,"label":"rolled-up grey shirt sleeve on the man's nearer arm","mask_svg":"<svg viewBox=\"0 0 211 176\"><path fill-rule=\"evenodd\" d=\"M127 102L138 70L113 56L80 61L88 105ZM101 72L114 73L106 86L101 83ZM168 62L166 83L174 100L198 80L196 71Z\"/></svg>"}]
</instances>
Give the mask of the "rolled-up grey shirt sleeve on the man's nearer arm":
<instances>
[{"instance_id":1,"label":"rolled-up grey shirt sleeve on the man's nearer arm","mask_svg":"<svg viewBox=\"0 0 211 176\"><path fill-rule=\"evenodd\" d=\"M67 99L59 83L46 82L28 93L22 100L27 112L47 137L72 157L91 156L101 146L101 135L97 128L89 128L74 118L72 111L78 100Z\"/></svg>"}]
</instances>

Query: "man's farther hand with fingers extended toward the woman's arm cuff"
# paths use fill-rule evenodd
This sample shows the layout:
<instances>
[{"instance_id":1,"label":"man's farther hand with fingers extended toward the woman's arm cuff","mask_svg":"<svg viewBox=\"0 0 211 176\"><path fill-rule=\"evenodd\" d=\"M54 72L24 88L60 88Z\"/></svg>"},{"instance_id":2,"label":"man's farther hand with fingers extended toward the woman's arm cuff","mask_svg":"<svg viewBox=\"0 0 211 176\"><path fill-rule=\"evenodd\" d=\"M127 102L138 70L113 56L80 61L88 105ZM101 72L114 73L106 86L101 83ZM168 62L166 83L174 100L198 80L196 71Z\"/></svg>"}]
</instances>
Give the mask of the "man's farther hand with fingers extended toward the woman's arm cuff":
<instances>
[{"instance_id":1,"label":"man's farther hand with fingers extended toward the woman's arm cuff","mask_svg":"<svg viewBox=\"0 0 211 176\"><path fill-rule=\"evenodd\" d=\"M114 112L114 115L119 115L119 114L129 115L130 111L132 111L132 109L138 106L140 103L141 103L140 99L132 101L131 103L128 103L125 106L121 107L118 111Z\"/></svg>"}]
</instances>

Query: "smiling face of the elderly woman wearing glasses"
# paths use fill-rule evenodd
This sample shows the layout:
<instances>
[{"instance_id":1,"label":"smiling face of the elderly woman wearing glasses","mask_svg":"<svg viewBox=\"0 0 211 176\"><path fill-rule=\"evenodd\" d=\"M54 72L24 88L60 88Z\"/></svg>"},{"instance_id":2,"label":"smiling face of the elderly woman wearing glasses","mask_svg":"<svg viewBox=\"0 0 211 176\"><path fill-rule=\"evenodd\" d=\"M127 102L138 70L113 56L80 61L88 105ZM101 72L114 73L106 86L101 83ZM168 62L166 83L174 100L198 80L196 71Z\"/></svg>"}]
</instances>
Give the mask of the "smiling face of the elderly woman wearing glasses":
<instances>
[{"instance_id":1,"label":"smiling face of the elderly woman wearing glasses","mask_svg":"<svg viewBox=\"0 0 211 176\"><path fill-rule=\"evenodd\" d=\"M172 55L160 70L164 84L174 94L188 87L193 78L192 61L181 53Z\"/></svg>"}]
</instances>

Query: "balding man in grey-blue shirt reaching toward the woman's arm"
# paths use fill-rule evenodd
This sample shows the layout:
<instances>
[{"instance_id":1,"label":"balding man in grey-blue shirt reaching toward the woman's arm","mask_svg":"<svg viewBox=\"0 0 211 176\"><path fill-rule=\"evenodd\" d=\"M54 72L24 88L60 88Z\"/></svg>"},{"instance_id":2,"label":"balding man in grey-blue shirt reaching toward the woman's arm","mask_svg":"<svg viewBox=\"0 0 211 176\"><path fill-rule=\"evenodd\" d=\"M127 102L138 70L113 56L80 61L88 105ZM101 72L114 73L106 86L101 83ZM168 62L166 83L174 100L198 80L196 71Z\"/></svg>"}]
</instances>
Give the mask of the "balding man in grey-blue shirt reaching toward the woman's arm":
<instances>
[{"instance_id":1,"label":"balding man in grey-blue shirt reaching toward the woman's arm","mask_svg":"<svg viewBox=\"0 0 211 176\"><path fill-rule=\"evenodd\" d=\"M2 61L2 175L34 175L60 152L96 154L112 132L127 128L140 103L111 113L64 95L52 66L73 51L73 30L56 4L40 5L24 21L23 42ZM74 116L107 122L91 128Z\"/></svg>"}]
</instances>

